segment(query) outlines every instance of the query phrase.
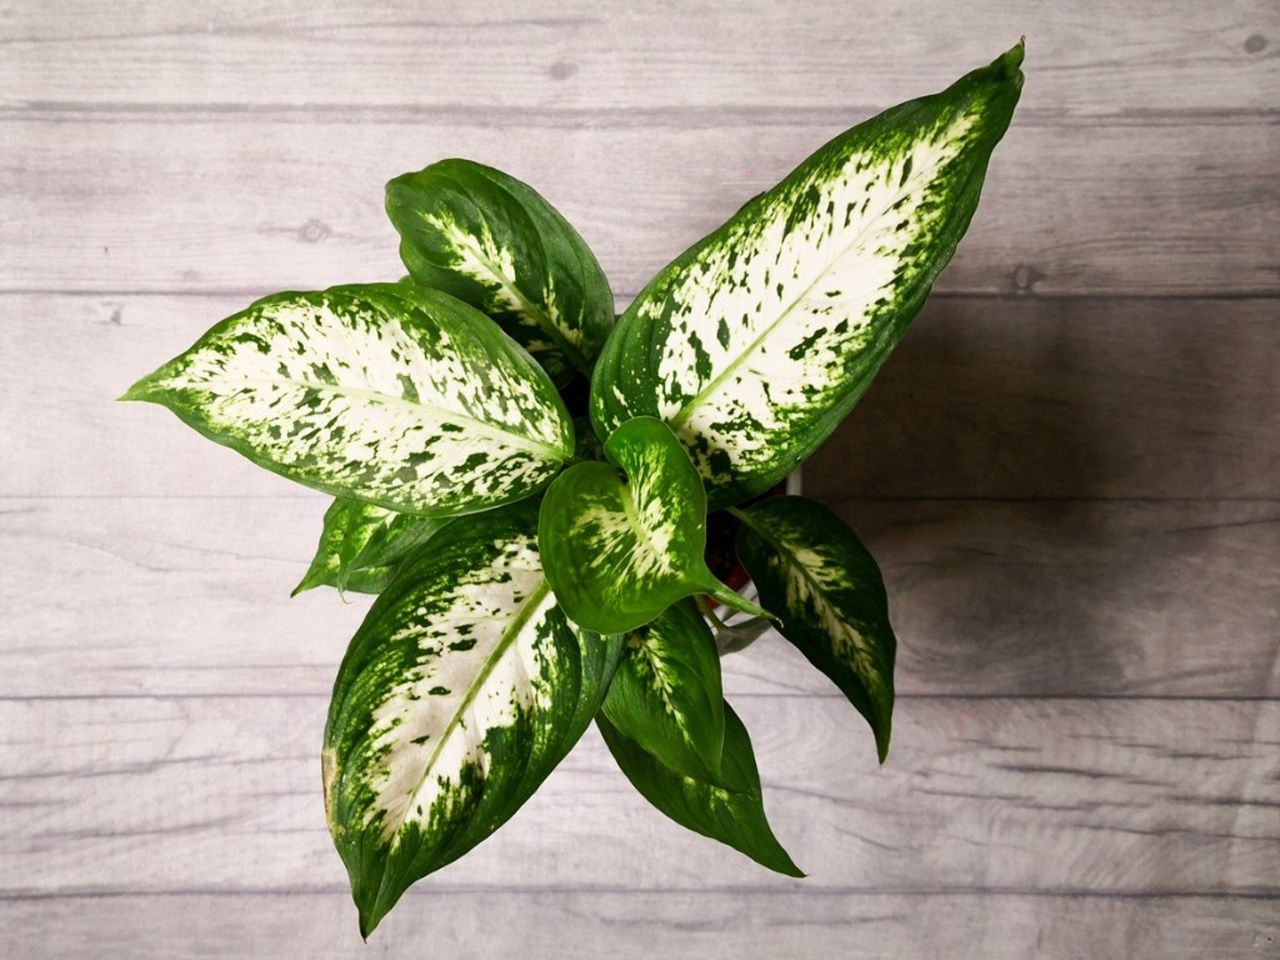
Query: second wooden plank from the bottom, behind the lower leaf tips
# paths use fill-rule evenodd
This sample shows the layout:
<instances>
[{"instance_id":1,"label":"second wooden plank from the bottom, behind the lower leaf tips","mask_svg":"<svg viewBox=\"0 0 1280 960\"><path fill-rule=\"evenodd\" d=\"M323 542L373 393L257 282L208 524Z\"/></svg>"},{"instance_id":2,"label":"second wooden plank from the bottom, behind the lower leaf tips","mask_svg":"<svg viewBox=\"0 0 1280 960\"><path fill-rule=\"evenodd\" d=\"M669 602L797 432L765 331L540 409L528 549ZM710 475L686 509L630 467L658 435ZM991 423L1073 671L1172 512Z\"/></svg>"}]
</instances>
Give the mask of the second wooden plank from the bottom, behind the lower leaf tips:
<instances>
[{"instance_id":1,"label":"second wooden plank from the bottom, behind the lower leaf tips","mask_svg":"<svg viewBox=\"0 0 1280 960\"><path fill-rule=\"evenodd\" d=\"M687 836L591 732L435 883L1280 896L1276 700L913 700L882 768L845 703L735 704L808 878ZM0 803L19 805L0 890L340 891L324 716L323 696L0 701Z\"/></svg>"}]
</instances>

